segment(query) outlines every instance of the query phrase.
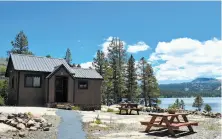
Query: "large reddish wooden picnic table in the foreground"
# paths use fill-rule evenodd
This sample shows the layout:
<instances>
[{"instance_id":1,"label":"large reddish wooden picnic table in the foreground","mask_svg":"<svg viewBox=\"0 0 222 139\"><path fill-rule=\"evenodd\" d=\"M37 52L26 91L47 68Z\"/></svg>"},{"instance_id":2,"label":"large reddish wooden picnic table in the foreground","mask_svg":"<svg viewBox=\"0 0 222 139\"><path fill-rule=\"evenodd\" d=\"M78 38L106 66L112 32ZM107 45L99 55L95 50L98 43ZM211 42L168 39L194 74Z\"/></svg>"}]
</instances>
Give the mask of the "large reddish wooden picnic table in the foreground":
<instances>
[{"instance_id":1,"label":"large reddish wooden picnic table in the foreground","mask_svg":"<svg viewBox=\"0 0 222 139\"><path fill-rule=\"evenodd\" d=\"M194 132L192 126L198 126L197 122L189 122L187 119L187 115L185 113L176 113L176 114L168 114L168 113L151 113L152 116L149 122L141 121L142 125L146 125L145 132L149 132L151 127L163 127L167 128L168 132L175 136L175 132L173 129L179 129L181 126L187 126L190 132ZM179 116L182 116L183 121L179 120ZM176 119L176 122L174 121Z\"/></svg>"}]
</instances>

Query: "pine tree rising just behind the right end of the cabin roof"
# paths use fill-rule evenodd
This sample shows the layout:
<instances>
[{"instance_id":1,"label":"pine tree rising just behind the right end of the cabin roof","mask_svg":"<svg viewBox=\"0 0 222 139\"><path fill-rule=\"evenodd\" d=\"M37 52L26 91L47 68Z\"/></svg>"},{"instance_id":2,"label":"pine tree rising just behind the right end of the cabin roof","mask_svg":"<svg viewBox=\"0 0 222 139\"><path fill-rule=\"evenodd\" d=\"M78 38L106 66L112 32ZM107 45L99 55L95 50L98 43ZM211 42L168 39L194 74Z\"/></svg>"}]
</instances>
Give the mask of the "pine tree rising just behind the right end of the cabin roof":
<instances>
[{"instance_id":1,"label":"pine tree rising just behind the right end of the cabin roof","mask_svg":"<svg viewBox=\"0 0 222 139\"><path fill-rule=\"evenodd\" d=\"M104 74L105 55L101 50L97 51L96 58L93 59L95 70L103 76Z\"/></svg>"}]
</instances>

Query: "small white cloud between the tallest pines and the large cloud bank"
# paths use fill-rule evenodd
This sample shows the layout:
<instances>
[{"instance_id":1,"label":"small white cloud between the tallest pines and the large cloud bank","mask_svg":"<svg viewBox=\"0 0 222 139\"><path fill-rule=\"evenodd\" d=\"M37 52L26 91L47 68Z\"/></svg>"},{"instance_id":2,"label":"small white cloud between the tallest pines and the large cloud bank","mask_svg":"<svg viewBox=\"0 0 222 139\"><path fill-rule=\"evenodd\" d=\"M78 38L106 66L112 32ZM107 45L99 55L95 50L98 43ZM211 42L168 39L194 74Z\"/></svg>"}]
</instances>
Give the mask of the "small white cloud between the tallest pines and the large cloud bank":
<instances>
[{"instance_id":1,"label":"small white cloud between the tallest pines and the large cloud bank","mask_svg":"<svg viewBox=\"0 0 222 139\"><path fill-rule=\"evenodd\" d=\"M137 52L140 52L140 51L146 51L149 48L150 47L145 42L140 41L140 42L138 42L134 45L128 45L127 52L137 53Z\"/></svg>"}]
</instances>

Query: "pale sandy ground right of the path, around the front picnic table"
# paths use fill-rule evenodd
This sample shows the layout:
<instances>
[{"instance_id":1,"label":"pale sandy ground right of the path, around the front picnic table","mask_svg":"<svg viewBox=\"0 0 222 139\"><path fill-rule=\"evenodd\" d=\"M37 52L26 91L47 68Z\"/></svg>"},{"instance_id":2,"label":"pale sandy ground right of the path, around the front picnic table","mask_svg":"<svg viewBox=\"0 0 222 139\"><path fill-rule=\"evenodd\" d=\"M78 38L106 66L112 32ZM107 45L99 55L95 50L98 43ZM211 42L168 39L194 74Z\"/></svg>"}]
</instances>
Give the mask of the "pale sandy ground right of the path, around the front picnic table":
<instances>
[{"instance_id":1,"label":"pale sandy ground right of the path, around the front picnic table","mask_svg":"<svg viewBox=\"0 0 222 139\"><path fill-rule=\"evenodd\" d=\"M145 133L146 126L140 124L140 121L149 121L151 116L147 112L141 112L140 115L119 115L115 112L85 112L79 111L82 115L83 128L87 133L88 139L158 139L172 138L167 130L158 131L158 128L152 128L153 131ZM101 124L95 124L93 121L99 117ZM180 119L182 120L182 119ZM198 126L193 126L194 133L190 134L187 127L181 127L175 131L177 138L186 139L220 139L221 138L221 119L207 118L200 115L188 115L189 121L198 122Z\"/></svg>"}]
</instances>

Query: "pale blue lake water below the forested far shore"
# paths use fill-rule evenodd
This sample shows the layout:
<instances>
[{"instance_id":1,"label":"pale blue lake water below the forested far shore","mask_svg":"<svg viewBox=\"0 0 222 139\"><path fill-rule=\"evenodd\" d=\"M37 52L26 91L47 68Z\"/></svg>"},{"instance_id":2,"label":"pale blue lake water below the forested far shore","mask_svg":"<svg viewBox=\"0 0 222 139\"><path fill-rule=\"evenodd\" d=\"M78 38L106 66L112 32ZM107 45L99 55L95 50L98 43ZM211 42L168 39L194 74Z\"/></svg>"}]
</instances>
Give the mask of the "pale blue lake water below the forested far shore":
<instances>
[{"instance_id":1,"label":"pale blue lake water below the forested far shore","mask_svg":"<svg viewBox=\"0 0 222 139\"><path fill-rule=\"evenodd\" d=\"M202 97L204 105L201 108L201 111L204 109L205 104L209 104L212 108L212 112L221 112L221 97ZM159 98L161 108L168 108L169 105L173 104L177 98ZM183 99L185 103L185 110L195 110L195 107L192 107L195 98L178 98L179 100Z\"/></svg>"}]
</instances>

